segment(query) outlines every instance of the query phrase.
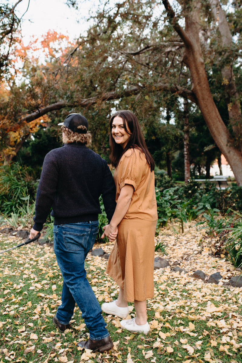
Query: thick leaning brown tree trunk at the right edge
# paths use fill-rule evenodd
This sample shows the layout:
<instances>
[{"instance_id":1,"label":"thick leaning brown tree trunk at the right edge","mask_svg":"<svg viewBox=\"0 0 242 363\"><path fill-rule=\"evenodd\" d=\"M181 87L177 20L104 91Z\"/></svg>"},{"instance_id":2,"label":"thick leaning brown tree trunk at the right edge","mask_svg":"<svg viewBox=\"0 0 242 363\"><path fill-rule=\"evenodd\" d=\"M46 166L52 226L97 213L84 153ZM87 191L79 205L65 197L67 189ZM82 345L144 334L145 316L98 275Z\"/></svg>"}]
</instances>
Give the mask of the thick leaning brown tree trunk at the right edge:
<instances>
[{"instance_id":1,"label":"thick leaning brown tree trunk at the right edge","mask_svg":"<svg viewBox=\"0 0 242 363\"><path fill-rule=\"evenodd\" d=\"M213 101L210 92L208 77L205 71L202 49L199 39L199 13L201 2L186 1L189 7L189 13L185 15L185 31L179 25L175 13L173 12L169 1L162 0L167 9L169 20L176 32L184 41L184 63L188 66L192 76L192 90L197 98L198 107L204 117L206 125L216 142L218 148L228 161L238 185L242 186L242 155L241 152L233 147L233 138L229 130L222 121L218 109Z\"/></svg>"}]
</instances>

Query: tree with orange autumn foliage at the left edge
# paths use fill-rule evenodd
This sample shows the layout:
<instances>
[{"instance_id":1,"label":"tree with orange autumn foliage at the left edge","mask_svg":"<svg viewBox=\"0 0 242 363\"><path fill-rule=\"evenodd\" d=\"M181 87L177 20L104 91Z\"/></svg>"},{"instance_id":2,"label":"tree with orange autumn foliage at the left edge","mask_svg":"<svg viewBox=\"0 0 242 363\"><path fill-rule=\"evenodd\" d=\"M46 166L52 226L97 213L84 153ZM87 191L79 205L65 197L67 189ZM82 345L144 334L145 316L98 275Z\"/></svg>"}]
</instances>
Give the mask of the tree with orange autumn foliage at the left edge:
<instances>
[{"instance_id":1,"label":"tree with orange autumn foliage at the left edge","mask_svg":"<svg viewBox=\"0 0 242 363\"><path fill-rule=\"evenodd\" d=\"M62 59L58 54L61 52L65 57L65 52L72 46L67 36L50 31L39 43L38 40L34 40L28 46L24 46L20 40L15 46L15 51L11 54L14 73L12 72L13 75L1 84L0 91L0 137L5 163L16 156L25 140L39 129L39 125L44 126L46 122L50 122L47 113L40 115L41 117L37 115L29 122L25 119L19 122L19 115L38 109L42 103L51 103L53 91L55 97L63 97L63 94L68 92L68 83L63 79L62 82L58 82L53 70L56 69L56 63ZM38 54L36 57L33 56L40 47L45 55L45 64L39 62Z\"/></svg>"}]
</instances>

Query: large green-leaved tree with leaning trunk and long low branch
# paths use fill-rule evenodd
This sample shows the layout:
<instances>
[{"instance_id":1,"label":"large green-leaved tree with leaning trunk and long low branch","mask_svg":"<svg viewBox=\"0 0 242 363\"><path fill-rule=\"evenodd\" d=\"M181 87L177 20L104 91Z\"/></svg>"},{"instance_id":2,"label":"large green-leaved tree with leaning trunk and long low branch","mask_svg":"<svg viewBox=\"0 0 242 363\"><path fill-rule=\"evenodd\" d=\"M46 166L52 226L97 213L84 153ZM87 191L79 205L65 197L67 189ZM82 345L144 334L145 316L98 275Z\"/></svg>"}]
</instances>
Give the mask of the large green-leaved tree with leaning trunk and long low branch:
<instances>
[{"instance_id":1,"label":"large green-leaved tree with leaning trunk and long low branch","mask_svg":"<svg viewBox=\"0 0 242 363\"><path fill-rule=\"evenodd\" d=\"M78 1L72 3L78 5ZM199 107L238 185L242 185L241 69L237 67L242 48L238 37L241 5L238 1L228 5L222 7L221 1L215 0L173 1L174 8L166 0L132 0L110 7L105 3L87 36L80 37L62 61L52 64L51 74L46 69L44 101L39 97L38 106L32 103L19 111L16 127L67 107L84 110L96 105L93 107L111 110L126 104L139 109L141 99L143 108L152 99L161 114L166 108L161 94L173 93ZM221 30L224 26L217 22L222 16L223 23L230 26L226 36ZM228 73L230 78L226 78ZM54 80L52 88L48 88L48 77L52 85ZM34 88L36 80L31 82ZM216 106L220 98L227 102L227 125Z\"/></svg>"}]
</instances>

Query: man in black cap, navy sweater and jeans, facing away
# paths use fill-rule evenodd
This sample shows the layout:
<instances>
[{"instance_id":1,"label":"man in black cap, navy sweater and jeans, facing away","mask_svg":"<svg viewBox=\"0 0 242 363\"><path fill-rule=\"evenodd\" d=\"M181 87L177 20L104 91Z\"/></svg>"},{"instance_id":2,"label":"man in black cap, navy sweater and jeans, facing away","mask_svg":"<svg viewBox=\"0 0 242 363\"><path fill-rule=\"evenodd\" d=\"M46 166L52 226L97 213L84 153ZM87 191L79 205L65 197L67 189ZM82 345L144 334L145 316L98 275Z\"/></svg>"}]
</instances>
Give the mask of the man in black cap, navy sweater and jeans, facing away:
<instances>
[{"instance_id":1,"label":"man in black cap, navy sweater and jeans, facing away","mask_svg":"<svg viewBox=\"0 0 242 363\"><path fill-rule=\"evenodd\" d=\"M69 328L77 303L90 332L89 340L77 345L102 352L113 343L86 279L84 261L98 233L99 196L110 221L116 206L115 184L107 162L87 147L91 144L87 119L69 114L58 125L64 144L45 156L29 238L41 231L52 208L54 252L63 277L62 304L53 323L60 331Z\"/></svg>"}]
</instances>

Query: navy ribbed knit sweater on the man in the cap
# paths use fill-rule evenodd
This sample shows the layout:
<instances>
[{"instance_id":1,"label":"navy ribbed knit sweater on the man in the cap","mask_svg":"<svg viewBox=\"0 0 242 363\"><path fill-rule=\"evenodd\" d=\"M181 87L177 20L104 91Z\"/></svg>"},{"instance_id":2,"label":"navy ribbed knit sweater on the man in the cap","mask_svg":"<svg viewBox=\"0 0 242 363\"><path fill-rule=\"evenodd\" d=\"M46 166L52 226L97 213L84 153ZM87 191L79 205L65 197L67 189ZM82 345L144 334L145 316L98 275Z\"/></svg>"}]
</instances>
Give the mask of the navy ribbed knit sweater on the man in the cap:
<instances>
[{"instance_id":1,"label":"navy ribbed knit sweater on the man in the cap","mask_svg":"<svg viewBox=\"0 0 242 363\"><path fill-rule=\"evenodd\" d=\"M110 221L115 193L112 173L100 155L82 143L64 144L45 156L33 228L41 231L51 208L54 224L97 220L100 195Z\"/></svg>"}]
</instances>

